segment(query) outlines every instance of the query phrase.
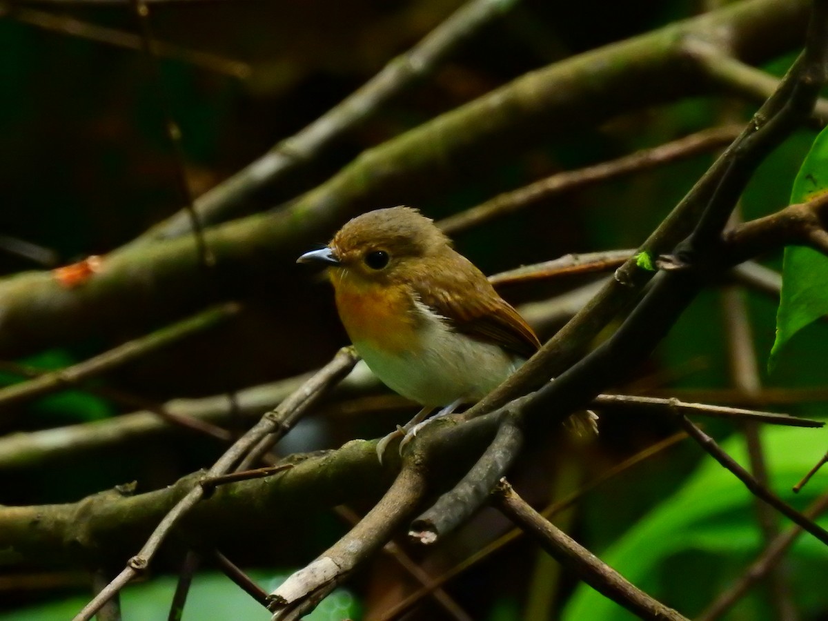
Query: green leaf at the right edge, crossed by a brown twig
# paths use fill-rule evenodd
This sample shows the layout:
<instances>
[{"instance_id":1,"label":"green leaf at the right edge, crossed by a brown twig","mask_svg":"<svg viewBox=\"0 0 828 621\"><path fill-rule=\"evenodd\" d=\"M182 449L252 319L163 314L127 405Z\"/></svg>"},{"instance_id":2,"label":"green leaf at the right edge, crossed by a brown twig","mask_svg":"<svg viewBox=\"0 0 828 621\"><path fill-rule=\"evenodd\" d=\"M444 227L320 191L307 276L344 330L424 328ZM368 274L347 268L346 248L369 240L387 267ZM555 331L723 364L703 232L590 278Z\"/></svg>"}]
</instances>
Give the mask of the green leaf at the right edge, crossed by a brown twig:
<instances>
[{"instance_id":1,"label":"green leaf at the right edge, crossed by a brown twig","mask_svg":"<svg viewBox=\"0 0 828 621\"><path fill-rule=\"evenodd\" d=\"M791 204L802 203L828 190L828 128L816 137L802 162L791 191ZM828 257L803 246L785 248L777 333L768 370L776 366L779 350L806 325L828 314Z\"/></svg>"}]
</instances>

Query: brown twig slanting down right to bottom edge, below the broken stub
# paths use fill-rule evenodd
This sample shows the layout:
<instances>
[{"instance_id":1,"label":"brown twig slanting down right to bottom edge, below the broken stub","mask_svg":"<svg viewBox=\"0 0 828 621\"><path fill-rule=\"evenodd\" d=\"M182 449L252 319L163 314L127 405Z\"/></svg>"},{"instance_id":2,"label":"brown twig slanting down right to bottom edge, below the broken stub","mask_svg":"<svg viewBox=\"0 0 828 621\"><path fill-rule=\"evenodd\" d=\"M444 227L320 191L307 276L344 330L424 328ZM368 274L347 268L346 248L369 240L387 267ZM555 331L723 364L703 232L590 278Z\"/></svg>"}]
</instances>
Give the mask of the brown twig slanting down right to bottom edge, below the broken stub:
<instances>
[{"instance_id":1,"label":"brown twig slanting down right to bottom edge, below the broken stub","mask_svg":"<svg viewBox=\"0 0 828 621\"><path fill-rule=\"evenodd\" d=\"M537 539L542 548L561 565L575 571L581 580L601 595L612 599L640 619L686 621L686 617L638 589L623 575L554 527L518 496L506 479L495 489L492 498L506 517Z\"/></svg>"}]
</instances>

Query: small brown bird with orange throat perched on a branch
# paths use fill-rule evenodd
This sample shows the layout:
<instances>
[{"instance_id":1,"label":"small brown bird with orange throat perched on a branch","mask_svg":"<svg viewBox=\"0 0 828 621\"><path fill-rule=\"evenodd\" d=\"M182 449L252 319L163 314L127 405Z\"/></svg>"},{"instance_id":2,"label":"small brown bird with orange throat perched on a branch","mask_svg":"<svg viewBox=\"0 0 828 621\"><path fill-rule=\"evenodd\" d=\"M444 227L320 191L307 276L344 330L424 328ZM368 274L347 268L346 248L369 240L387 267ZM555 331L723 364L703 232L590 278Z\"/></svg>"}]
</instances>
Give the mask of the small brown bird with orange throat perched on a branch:
<instances>
[{"instance_id":1,"label":"small brown bird with orange throat perched on a branch","mask_svg":"<svg viewBox=\"0 0 828 621\"><path fill-rule=\"evenodd\" d=\"M409 433L434 408L479 401L541 346L484 273L412 207L359 215L297 262L328 267L357 353L388 388L424 407L403 428ZM380 460L392 436L378 446Z\"/></svg>"}]
</instances>

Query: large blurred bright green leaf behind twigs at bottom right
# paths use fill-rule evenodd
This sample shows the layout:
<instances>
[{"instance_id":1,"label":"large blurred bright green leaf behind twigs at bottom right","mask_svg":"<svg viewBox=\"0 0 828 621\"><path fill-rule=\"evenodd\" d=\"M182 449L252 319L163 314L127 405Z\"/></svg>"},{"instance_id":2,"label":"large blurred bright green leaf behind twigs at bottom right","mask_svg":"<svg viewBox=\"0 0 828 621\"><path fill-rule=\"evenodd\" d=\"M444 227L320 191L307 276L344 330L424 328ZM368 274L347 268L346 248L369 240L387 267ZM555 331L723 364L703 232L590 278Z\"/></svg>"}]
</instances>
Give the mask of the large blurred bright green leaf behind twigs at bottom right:
<instances>
[{"instance_id":1,"label":"large blurred bright green leaf behind twigs at bottom right","mask_svg":"<svg viewBox=\"0 0 828 621\"><path fill-rule=\"evenodd\" d=\"M825 433L796 428L763 429L763 446L768 460L768 471L773 473L771 487L782 498L797 507L813 502L828 484L828 472L816 474L819 480L811 482L795 496L791 487L802 474L816 463L825 452ZM747 465L749 458L744 438L734 436L722 443L735 460ZM608 550L598 556L618 570L634 585L645 590L665 604L679 609L682 614L697 614L705 604L694 598L696 594L715 595L728 587L763 548L755 512L755 499L736 479L711 458L705 458L696 472L650 513L638 520ZM612 519L612 516L607 516ZM782 522L787 527L789 522ZM821 517L823 527L828 517ZM676 561L701 557L707 570L682 570L680 591L671 589L676 575ZM807 576L825 575L828 561L825 546L814 537L803 535L797 540L788 557L792 595L805 611L821 606L808 593ZM804 615L803 615L804 616ZM734 617L735 619L736 617ZM751 619L765 619L763 615ZM562 621L601 619L627 621L633 614L619 604L606 599L587 585L579 585L566 605Z\"/></svg>"}]
</instances>

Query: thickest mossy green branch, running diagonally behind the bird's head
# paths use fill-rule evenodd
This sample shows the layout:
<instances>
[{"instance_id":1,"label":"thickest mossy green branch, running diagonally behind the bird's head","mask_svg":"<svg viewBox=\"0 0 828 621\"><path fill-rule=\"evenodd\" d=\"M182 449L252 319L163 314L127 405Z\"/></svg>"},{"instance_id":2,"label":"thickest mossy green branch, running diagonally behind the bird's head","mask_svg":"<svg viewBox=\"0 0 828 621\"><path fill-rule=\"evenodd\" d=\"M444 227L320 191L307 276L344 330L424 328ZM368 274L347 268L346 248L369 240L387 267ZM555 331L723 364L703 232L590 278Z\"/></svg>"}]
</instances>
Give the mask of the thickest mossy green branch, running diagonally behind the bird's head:
<instances>
[{"instance_id":1,"label":"thickest mossy green branch, running diagonally behind the bird's head","mask_svg":"<svg viewBox=\"0 0 828 621\"><path fill-rule=\"evenodd\" d=\"M522 76L363 153L283 209L207 230L205 243L217 259L209 277L200 273L192 241L183 238L113 252L100 272L71 290L40 272L7 278L0 282L0 355L181 313L212 295L214 278L229 296L248 291L253 282L261 286L267 266L292 264L310 243L367 207L394 205L400 196L416 203L444 190L448 181L459 181L459 171L479 171L532 144L643 104L703 92L708 87L688 73L682 37L726 29L733 33L736 54L767 59L797 40L806 8L805 0L747 0ZM691 205L694 209L699 208ZM676 232L673 220L666 224L673 233L659 233L648 241L648 250L668 252L687 233L690 223L678 223ZM624 283L635 281L629 272L619 276ZM165 301L162 307L158 299Z\"/></svg>"}]
</instances>

